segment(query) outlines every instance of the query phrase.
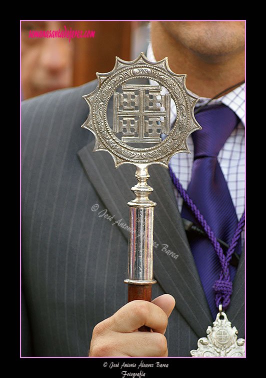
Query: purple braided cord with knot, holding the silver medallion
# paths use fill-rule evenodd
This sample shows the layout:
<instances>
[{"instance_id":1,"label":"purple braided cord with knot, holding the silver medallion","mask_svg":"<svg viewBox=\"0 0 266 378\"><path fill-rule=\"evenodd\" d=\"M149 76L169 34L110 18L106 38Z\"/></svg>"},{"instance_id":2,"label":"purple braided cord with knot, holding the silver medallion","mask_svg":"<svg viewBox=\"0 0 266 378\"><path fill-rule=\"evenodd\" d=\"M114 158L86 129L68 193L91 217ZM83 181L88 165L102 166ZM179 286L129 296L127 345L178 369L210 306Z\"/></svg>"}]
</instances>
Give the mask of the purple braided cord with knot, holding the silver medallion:
<instances>
[{"instance_id":1,"label":"purple braided cord with knot, holding the silver medallion","mask_svg":"<svg viewBox=\"0 0 266 378\"><path fill-rule=\"evenodd\" d=\"M232 293L232 283L230 282L230 275L229 275L229 262L232 257L232 254L234 252L234 249L237 245L237 242L239 240L242 228L245 223L245 212L243 212L240 221L238 222L237 228L234 232L234 235L232 237L230 246L226 252L226 256L223 253L223 250L220 246L220 243L217 241L213 231L205 221L203 215L200 213L200 211L197 209L196 205L193 203L191 198L188 196L182 185L180 184L179 180L175 177L171 167L169 166L169 173L171 180L180 193L181 197L185 201L185 203L189 206L189 208L192 210L195 218L200 223L201 227L204 229L206 235L208 236L211 244L213 245L217 256L219 258L220 264L221 264L221 271L219 274L219 279L214 282L213 290L216 293L215 295L215 304L217 308L219 307L219 304L222 304L222 308L225 310L229 303L230 303L230 295Z\"/></svg>"}]
</instances>

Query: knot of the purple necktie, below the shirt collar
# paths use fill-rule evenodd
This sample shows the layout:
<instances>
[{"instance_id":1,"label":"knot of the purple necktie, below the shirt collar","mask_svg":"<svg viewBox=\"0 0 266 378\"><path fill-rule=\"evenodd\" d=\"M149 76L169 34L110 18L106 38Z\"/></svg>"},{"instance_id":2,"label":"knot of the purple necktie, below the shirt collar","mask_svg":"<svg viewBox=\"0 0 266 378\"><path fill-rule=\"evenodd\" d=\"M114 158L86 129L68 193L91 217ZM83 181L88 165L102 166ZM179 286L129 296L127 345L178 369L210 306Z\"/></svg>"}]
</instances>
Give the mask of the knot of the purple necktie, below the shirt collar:
<instances>
[{"instance_id":1,"label":"knot of the purple necktie, below the shirt collar","mask_svg":"<svg viewBox=\"0 0 266 378\"><path fill-rule=\"evenodd\" d=\"M195 114L195 119L202 127L192 133L194 142L194 159L217 157L238 123L236 114L223 104L213 105Z\"/></svg>"}]
</instances>

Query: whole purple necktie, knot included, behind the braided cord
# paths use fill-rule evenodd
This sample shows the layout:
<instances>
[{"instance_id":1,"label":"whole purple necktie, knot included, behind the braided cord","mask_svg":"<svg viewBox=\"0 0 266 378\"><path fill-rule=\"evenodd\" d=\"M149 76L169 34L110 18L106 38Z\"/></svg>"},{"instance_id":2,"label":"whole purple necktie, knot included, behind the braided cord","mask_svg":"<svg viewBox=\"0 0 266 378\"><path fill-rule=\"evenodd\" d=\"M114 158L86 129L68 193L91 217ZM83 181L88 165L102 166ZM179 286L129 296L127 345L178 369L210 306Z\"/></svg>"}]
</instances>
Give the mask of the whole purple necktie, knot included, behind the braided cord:
<instances>
[{"instance_id":1,"label":"whole purple necktie, knot included, behind the braided cord","mask_svg":"<svg viewBox=\"0 0 266 378\"><path fill-rule=\"evenodd\" d=\"M195 118L202 130L192 133L194 162L187 194L203 215L215 237L230 244L238 221L217 155L239 119L232 110L222 104L205 108L197 113ZM185 203L181 216L199 225ZM217 308L212 286L219 277L221 269L219 259L207 238L193 235L189 239L189 244L211 314L215 318ZM240 242L235 251L240 253ZM229 273L232 281L235 274L233 266L229 266Z\"/></svg>"}]
</instances>

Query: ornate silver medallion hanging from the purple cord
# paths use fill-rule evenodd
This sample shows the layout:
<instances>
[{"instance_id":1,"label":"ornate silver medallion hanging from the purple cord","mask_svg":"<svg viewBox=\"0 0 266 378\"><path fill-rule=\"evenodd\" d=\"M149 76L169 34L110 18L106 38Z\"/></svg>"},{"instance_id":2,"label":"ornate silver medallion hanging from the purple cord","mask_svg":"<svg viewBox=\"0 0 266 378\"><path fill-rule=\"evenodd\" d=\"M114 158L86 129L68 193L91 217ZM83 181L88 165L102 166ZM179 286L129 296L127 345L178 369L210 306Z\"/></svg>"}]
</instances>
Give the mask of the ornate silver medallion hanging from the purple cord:
<instances>
[{"instance_id":1,"label":"ornate silver medallion hanging from the purple cord","mask_svg":"<svg viewBox=\"0 0 266 378\"><path fill-rule=\"evenodd\" d=\"M225 312L219 311L213 326L208 326L207 337L197 341L198 348L190 350L192 357L244 357L245 340L237 338L237 329L231 327Z\"/></svg>"}]
</instances>

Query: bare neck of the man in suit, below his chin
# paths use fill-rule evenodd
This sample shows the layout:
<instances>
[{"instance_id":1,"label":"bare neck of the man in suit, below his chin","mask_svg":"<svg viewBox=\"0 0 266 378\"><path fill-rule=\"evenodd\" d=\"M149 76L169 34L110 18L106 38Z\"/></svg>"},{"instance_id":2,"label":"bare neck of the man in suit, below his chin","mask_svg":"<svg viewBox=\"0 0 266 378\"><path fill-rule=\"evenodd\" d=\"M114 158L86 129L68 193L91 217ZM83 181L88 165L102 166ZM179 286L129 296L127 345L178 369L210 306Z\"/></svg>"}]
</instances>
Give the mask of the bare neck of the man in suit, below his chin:
<instances>
[{"instance_id":1,"label":"bare neck of the man in suit, below his chin","mask_svg":"<svg viewBox=\"0 0 266 378\"><path fill-rule=\"evenodd\" d=\"M168 35L163 27L151 28L151 43L156 61L168 57L170 69L176 74L187 74L187 89L200 97L212 98L244 80L244 51L199 56Z\"/></svg>"}]
</instances>

